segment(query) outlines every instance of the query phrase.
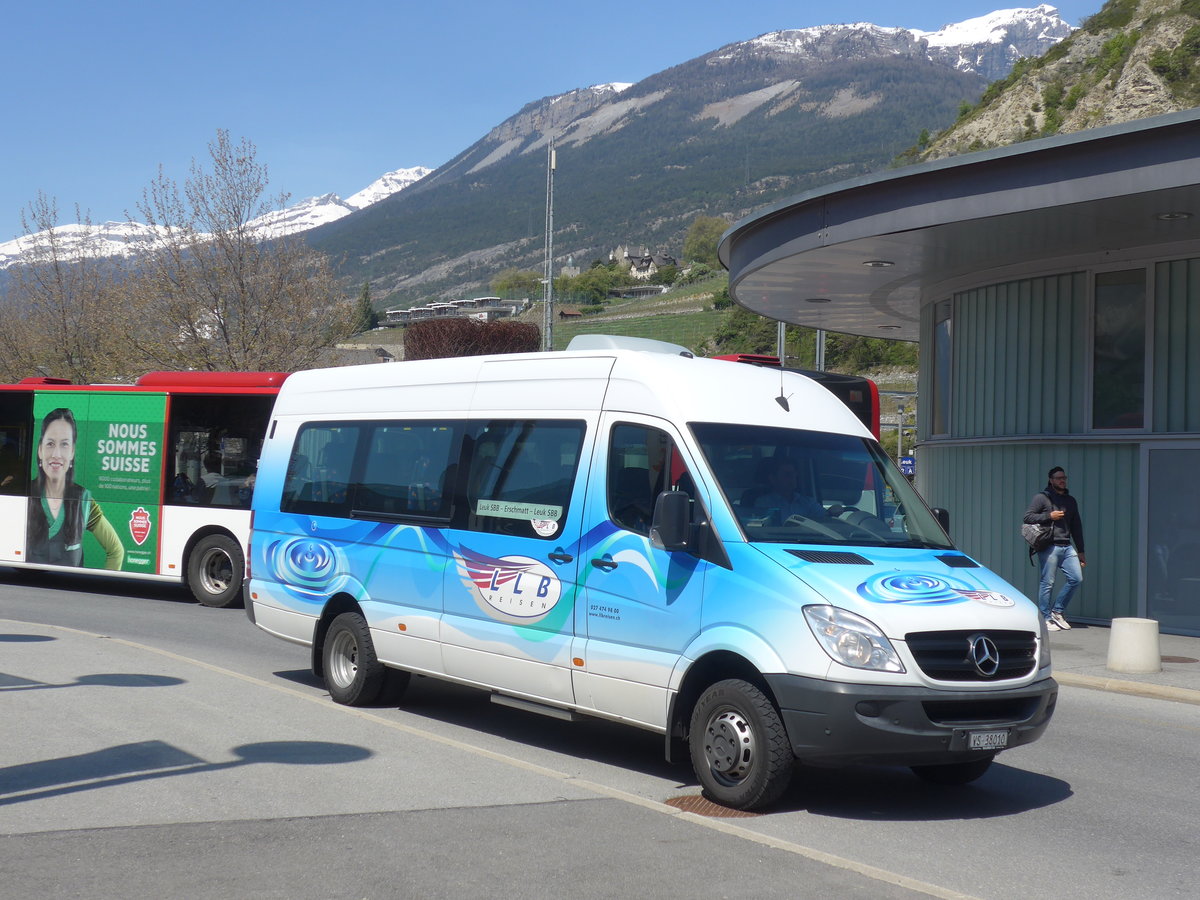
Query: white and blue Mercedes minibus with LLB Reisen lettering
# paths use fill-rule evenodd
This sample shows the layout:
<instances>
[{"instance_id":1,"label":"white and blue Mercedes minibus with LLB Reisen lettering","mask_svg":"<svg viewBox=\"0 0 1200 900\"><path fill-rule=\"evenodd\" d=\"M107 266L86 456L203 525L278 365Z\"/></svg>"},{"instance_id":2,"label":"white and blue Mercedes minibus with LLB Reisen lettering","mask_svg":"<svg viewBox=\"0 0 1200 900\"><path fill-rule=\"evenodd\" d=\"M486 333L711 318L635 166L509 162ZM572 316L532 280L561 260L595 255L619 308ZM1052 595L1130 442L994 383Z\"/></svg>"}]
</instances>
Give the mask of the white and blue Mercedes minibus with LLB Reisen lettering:
<instances>
[{"instance_id":1,"label":"white and blue Mercedes minibus with LLB Reisen lettering","mask_svg":"<svg viewBox=\"0 0 1200 900\"><path fill-rule=\"evenodd\" d=\"M680 350L588 336L292 376L247 616L308 647L336 702L420 673L626 722L738 809L796 761L965 784L1037 739L1057 697L1037 606L824 388Z\"/></svg>"}]
</instances>

